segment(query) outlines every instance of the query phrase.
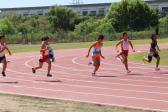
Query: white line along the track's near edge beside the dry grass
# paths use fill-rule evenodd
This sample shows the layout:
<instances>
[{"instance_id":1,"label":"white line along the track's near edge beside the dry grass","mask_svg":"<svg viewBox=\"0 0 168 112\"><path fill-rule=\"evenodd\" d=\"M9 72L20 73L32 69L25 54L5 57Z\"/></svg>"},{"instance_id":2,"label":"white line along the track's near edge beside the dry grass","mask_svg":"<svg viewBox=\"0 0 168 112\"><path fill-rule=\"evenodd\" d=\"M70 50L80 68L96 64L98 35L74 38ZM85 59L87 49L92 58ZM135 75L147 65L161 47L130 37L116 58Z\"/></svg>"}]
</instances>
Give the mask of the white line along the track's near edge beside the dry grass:
<instances>
[{"instance_id":1,"label":"white line along the track's near edge beside the dry grass","mask_svg":"<svg viewBox=\"0 0 168 112\"><path fill-rule=\"evenodd\" d=\"M0 91L0 92L5 93L5 94L22 95L22 96L30 96L30 97L38 97L38 98L69 100L69 101L77 101L77 102L92 103L92 104L102 104L102 105L109 105L109 106L118 106L118 107L134 108L134 109L144 109L144 110L151 110L151 111L167 112L167 110L162 110L162 109L157 109L157 108L146 108L146 107L138 107L138 106L120 105L120 104L114 104L114 103L112 104L112 103L93 102L93 101L87 101L87 100L55 98L55 97L42 96L42 95L21 94L21 93L16 93L16 92L15 93L3 92L3 91Z\"/></svg>"}]
</instances>

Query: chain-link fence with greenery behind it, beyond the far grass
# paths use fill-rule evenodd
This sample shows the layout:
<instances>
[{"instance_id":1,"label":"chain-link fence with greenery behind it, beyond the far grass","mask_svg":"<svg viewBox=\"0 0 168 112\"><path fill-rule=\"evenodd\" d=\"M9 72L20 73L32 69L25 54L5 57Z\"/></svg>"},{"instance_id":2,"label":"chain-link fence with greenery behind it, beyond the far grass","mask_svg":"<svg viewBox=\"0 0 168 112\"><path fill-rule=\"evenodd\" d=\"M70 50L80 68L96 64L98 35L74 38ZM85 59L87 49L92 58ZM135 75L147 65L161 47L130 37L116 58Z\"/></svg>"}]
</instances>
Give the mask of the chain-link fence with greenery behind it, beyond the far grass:
<instances>
[{"instance_id":1,"label":"chain-link fence with greenery behind it, beyond the far grass","mask_svg":"<svg viewBox=\"0 0 168 112\"><path fill-rule=\"evenodd\" d=\"M155 33L154 28L146 29L116 29L111 31L94 31L90 33L82 32L65 32L58 31L55 33L51 32L32 32L32 33L17 33L8 34L6 33L6 39L8 44L40 44L41 38L44 36L49 36L51 43L69 43L69 42L90 42L97 40L99 34L105 36L106 41L120 40L122 38L122 33L127 32L129 39L149 39L151 34ZM159 37L168 37L168 28L159 28Z\"/></svg>"}]
</instances>

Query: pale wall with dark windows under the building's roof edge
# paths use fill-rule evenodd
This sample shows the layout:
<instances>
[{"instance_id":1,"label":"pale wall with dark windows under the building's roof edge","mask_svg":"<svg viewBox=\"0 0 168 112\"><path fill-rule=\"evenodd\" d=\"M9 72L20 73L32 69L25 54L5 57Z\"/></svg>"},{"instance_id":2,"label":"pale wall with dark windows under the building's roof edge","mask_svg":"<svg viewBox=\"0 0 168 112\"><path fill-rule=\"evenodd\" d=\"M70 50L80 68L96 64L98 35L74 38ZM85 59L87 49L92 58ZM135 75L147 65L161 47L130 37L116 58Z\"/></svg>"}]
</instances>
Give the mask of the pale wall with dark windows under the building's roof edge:
<instances>
[{"instance_id":1,"label":"pale wall with dark windows under the building's roof edge","mask_svg":"<svg viewBox=\"0 0 168 112\"><path fill-rule=\"evenodd\" d=\"M149 3L149 5L159 8L159 10L162 10L162 7L168 7L168 2L156 2L156 3ZM73 11L78 12L80 14L83 14L84 12L87 14L91 11L96 11L96 14L99 13L99 11L104 11L104 14L108 13L108 10L110 8L110 3L106 4L83 4L83 5L75 5L75 6L68 6L72 8ZM3 9L2 9L3 10ZM6 12L9 13L18 13L21 16L24 15L32 15L32 14L42 14L45 15L49 11L49 7L31 7L29 8L7 8L7 11L2 11L1 16L5 14Z\"/></svg>"}]
</instances>

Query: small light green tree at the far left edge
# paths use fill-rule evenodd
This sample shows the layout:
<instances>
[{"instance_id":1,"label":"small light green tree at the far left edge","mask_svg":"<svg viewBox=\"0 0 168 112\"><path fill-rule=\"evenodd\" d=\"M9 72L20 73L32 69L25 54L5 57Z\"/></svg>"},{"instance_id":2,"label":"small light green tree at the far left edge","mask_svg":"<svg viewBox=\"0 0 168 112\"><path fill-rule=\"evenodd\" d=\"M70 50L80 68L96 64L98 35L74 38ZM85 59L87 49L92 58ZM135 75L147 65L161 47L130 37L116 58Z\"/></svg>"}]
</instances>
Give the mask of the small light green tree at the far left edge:
<instances>
[{"instance_id":1,"label":"small light green tree at the far left edge","mask_svg":"<svg viewBox=\"0 0 168 112\"><path fill-rule=\"evenodd\" d=\"M16 33L16 28L13 23L8 20L7 17L0 20L0 33Z\"/></svg>"}]
</instances>

